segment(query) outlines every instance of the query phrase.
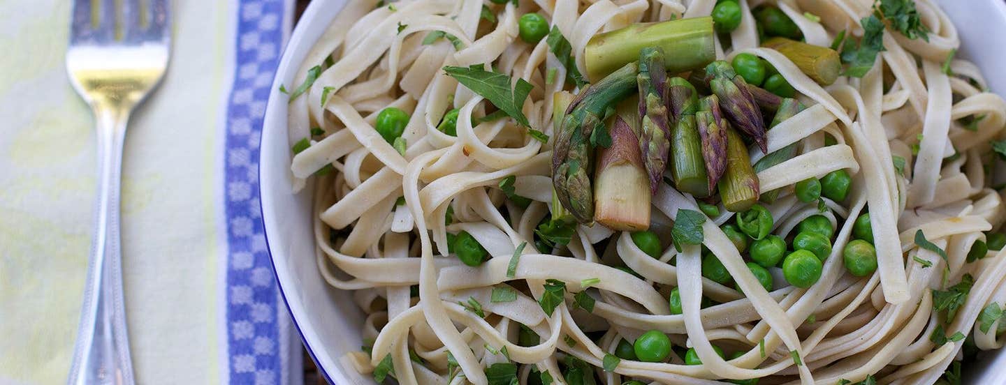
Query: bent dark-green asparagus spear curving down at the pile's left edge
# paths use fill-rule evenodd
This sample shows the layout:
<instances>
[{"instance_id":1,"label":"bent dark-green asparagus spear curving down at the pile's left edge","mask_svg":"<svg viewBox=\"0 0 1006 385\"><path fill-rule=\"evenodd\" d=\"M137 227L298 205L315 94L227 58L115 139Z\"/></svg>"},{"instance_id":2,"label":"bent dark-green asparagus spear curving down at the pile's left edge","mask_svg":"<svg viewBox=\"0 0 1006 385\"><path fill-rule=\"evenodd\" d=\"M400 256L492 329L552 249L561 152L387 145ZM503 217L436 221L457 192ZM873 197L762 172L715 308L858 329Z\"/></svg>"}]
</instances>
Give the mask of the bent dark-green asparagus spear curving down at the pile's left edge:
<instances>
[{"instance_id":1,"label":"bent dark-green asparagus spear curving down at the pile's left edge","mask_svg":"<svg viewBox=\"0 0 1006 385\"><path fill-rule=\"evenodd\" d=\"M610 145L602 118L610 106L635 89L637 68L635 62L628 63L582 89L569 104L555 133L552 185L558 201L580 223L588 223L594 217L590 179L594 148Z\"/></svg>"}]
</instances>

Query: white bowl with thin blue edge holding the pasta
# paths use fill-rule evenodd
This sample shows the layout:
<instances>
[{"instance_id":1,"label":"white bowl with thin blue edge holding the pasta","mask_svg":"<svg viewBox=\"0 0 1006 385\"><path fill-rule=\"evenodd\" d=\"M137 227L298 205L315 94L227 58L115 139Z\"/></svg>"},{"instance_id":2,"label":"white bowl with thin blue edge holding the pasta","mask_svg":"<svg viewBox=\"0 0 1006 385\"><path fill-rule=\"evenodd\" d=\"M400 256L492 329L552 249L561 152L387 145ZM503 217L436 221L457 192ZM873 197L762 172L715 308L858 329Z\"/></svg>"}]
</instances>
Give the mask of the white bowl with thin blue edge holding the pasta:
<instances>
[{"instance_id":1,"label":"white bowl with thin blue edge holding the pasta","mask_svg":"<svg viewBox=\"0 0 1006 385\"><path fill-rule=\"evenodd\" d=\"M1006 3L1003 0L939 0L954 20L962 40L962 57L984 70L992 89L1006 91ZM291 150L287 141L287 97L280 84L294 83L299 64L346 0L312 2L294 29L280 60L266 109L259 164L262 211L269 251L280 291L301 332L308 352L325 378L334 384L373 383L341 357L360 349L363 316L350 295L330 287L315 263L311 228L311 188L294 195L290 189ZM1006 384L1006 354L969 366L972 384Z\"/></svg>"}]
</instances>

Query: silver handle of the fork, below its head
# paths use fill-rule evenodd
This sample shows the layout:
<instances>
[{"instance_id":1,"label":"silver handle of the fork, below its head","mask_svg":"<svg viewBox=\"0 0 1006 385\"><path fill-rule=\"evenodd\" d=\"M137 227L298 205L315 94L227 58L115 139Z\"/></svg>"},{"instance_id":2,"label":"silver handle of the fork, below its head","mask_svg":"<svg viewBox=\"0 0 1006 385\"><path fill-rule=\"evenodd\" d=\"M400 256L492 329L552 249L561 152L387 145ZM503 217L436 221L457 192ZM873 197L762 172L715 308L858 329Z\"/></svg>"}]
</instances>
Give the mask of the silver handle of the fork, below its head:
<instances>
[{"instance_id":1,"label":"silver handle of the fork, below its head","mask_svg":"<svg viewBox=\"0 0 1006 385\"><path fill-rule=\"evenodd\" d=\"M123 305L120 179L129 108L96 104L98 205L88 280L67 384L133 384Z\"/></svg>"}]
</instances>

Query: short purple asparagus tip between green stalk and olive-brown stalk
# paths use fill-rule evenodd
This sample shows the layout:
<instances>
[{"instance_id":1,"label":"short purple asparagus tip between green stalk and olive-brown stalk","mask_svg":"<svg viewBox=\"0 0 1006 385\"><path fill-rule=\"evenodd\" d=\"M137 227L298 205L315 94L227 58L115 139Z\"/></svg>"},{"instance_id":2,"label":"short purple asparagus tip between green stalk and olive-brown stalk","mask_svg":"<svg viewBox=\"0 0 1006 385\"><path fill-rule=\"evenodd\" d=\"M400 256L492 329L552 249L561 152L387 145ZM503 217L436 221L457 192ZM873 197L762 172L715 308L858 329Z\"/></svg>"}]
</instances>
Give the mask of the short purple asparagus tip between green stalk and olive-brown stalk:
<instances>
[{"instance_id":1,"label":"short purple asparagus tip between green stalk and olive-brown stalk","mask_svg":"<svg viewBox=\"0 0 1006 385\"><path fill-rule=\"evenodd\" d=\"M695 126L702 141L701 153L705 161L709 193L712 193L726 170L727 125L726 119L719 112L719 101L716 95L702 98L698 112L695 113Z\"/></svg>"}]
</instances>

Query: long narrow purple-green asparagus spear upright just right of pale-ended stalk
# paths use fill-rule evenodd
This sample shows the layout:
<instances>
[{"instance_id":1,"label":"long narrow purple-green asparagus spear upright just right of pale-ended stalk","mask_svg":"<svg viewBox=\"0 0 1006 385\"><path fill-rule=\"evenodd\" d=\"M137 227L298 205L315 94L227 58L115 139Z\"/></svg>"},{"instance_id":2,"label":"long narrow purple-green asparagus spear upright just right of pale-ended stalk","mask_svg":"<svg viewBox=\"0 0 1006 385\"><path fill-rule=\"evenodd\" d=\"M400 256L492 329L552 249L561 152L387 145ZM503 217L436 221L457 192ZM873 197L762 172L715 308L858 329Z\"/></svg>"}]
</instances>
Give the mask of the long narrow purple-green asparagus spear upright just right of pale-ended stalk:
<instances>
[{"instance_id":1,"label":"long narrow purple-green asparagus spear upright just right of pale-ended stalk","mask_svg":"<svg viewBox=\"0 0 1006 385\"><path fill-rule=\"evenodd\" d=\"M667 168L667 153L671 147L663 50L647 47L640 51L636 81L639 83L639 116L643 122L639 148L646 172L650 176L650 192L656 194L664 169Z\"/></svg>"}]
</instances>

